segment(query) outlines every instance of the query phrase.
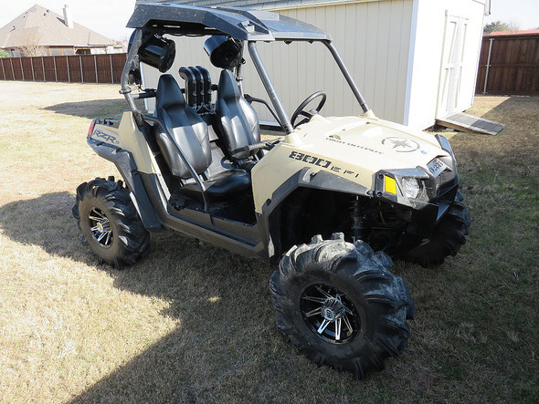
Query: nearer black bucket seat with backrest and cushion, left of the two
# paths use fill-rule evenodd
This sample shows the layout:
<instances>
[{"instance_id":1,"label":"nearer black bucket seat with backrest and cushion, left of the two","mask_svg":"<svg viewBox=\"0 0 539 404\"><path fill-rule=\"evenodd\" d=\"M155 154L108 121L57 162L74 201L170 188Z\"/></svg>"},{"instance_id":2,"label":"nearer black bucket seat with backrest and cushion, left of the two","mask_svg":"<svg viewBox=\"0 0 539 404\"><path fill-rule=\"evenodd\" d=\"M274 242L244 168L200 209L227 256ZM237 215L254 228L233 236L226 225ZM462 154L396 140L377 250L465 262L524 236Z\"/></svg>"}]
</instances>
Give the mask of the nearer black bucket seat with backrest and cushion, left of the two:
<instances>
[{"instance_id":1,"label":"nearer black bucket seat with backrest and cushion, left of the two","mask_svg":"<svg viewBox=\"0 0 539 404\"><path fill-rule=\"evenodd\" d=\"M196 173L203 174L212 162L206 122L200 118L195 109L185 103L182 90L171 75L159 78L155 98L155 118L163 122ZM159 130L156 140L172 174L183 181L193 178L166 134ZM222 199L227 195L246 190L250 186L250 177L244 170L224 170L211 178L206 178L204 183L206 194L210 199ZM196 183L187 183L182 190L195 195L200 193Z\"/></svg>"}]
</instances>

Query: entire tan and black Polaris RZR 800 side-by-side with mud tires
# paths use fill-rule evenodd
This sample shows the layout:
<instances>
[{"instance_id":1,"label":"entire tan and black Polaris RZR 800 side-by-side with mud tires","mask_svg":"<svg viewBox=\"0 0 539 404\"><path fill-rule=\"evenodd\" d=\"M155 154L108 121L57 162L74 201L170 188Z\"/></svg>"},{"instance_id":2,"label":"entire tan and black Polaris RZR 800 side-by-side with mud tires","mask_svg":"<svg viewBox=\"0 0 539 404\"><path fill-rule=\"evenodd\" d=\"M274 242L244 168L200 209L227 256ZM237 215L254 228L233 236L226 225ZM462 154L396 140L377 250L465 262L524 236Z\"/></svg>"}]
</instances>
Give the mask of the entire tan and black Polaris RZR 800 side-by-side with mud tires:
<instances>
[{"instance_id":1,"label":"entire tan and black Polaris RZR 800 side-by-side with mud tires","mask_svg":"<svg viewBox=\"0 0 539 404\"><path fill-rule=\"evenodd\" d=\"M390 256L441 264L470 228L449 141L376 118L331 37L301 21L243 8L146 4L128 26L134 32L121 93L129 109L122 119L94 119L88 134L123 181L80 184L73 207L90 250L120 269L148 253L150 233L172 230L278 264L271 299L294 346L357 378L384 368L403 352L414 316ZM188 60L170 70L182 57L174 36L207 36L217 84ZM320 90L289 119L259 41L322 43L362 115L323 117ZM248 56L270 103L244 93ZM163 73L157 88L143 88L141 63ZM153 114L137 108L139 98L155 99ZM261 140L253 102L270 109L282 138Z\"/></svg>"}]
</instances>

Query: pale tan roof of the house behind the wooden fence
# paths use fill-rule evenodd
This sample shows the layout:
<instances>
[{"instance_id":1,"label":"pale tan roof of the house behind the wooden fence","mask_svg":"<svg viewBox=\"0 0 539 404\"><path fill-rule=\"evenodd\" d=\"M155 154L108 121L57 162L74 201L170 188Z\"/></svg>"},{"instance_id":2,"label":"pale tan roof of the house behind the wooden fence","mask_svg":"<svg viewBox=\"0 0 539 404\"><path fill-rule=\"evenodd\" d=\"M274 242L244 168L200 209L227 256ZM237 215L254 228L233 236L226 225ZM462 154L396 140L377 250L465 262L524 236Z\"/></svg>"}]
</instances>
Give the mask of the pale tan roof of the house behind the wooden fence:
<instances>
[{"instance_id":1,"label":"pale tan roof of the house behind the wooden fence","mask_svg":"<svg viewBox=\"0 0 539 404\"><path fill-rule=\"evenodd\" d=\"M41 5L34 5L16 19L0 28L1 47L104 47L114 45L114 41L95 31L73 23L69 28L64 17Z\"/></svg>"}]
</instances>

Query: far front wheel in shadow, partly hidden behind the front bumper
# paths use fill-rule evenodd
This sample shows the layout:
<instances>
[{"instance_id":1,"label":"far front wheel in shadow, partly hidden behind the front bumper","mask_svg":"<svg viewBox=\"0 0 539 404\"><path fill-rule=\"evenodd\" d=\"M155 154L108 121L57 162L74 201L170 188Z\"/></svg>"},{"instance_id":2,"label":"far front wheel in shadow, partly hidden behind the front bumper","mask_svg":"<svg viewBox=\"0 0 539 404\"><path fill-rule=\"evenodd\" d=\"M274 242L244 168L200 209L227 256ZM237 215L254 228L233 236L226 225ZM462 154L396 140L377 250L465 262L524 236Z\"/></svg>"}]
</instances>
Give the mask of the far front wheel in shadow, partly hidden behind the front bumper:
<instances>
[{"instance_id":1,"label":"far front wheel in shadow, partly hidden behind the front bumper","mask_svg":"<svg viewBox=\"0 0 539 404\"><path fill-rule=\"evenodd\" d=\"M457 192L455 201L434 228L432 236L407 252L404 255L406 261L424 267L436 266L443 264L449 255L455 256L459 252L466 243L471 224L470 211L462 200L462 194Z\"/></svg>"}]
</instances>

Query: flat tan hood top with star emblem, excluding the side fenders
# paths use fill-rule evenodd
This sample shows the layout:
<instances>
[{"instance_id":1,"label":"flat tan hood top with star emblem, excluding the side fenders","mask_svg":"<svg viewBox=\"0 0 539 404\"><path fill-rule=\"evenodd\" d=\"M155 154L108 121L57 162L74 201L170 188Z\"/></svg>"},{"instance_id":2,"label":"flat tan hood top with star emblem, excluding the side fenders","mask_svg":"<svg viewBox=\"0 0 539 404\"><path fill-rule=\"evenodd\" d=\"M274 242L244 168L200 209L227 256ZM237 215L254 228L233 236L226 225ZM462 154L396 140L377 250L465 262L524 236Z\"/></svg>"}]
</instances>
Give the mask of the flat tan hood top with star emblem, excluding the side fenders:
<instances>
[{"instance_id":1,"label":"flat tan hood top with star emblem, excluding the side fenders","mask_svg":"<svg viewBox=\"0 0 539 404\"><path fill-rule=\"evenodd\" d=\"M421 167L436 157L448 156L428 133L382 119L316 115L298 128L301 149L312 149L346 166L363 171Z\"/></svg>"}]
</instances>

